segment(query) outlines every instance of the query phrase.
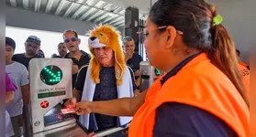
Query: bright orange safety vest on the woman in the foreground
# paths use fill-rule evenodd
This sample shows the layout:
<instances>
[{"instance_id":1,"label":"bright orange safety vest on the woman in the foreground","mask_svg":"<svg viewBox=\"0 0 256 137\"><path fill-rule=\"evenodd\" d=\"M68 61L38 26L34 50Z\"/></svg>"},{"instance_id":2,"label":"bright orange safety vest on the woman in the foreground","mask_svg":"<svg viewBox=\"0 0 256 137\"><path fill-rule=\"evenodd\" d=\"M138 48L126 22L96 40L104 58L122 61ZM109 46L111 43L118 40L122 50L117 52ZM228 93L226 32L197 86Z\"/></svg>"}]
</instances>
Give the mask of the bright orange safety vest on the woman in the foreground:
<instances>
[{"instance_id":1,"label":"bright orange safety vest on the woman in the foreground","mask_svg":"<svg viewBox=\"0 0 256 137\"><path fill-rule=\"evenodd\" d=\"M128 136L151 137L156 109L164 102L184 103L208 111L225 121L239 137L250 136L249 108L206 53L193 58L162 86L161 79L152 84L144 104L131 121Z\"/></svg>"}]
</instances>

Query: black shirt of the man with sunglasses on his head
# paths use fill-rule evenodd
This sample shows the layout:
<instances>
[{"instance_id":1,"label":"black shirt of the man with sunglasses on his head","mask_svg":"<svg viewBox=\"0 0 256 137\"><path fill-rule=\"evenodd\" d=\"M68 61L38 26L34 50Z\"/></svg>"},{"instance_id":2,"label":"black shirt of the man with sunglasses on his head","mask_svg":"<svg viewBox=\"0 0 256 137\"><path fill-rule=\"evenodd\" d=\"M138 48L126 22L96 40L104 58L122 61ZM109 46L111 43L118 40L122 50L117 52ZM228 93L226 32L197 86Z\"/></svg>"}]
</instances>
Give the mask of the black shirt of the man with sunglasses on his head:
<instances>
[{"instance_id":1,"label":"black shirt of the man with sunglasses on his head","mask_svg":"<svg viewBox=\"0 0 256 137\"><path fill-rule=\"evenodd\" d=\"M37 54L35 57L32 57L32 58L43 58L43 57L40 56L39 54ZM21 54L16 54L16 55L14 55L13 58L12 58L12 60L17 61L17 62L23 64L23 65L28 69L29 61L30 61L32 58L26 58L26 57L25 57L25 53L21 53Z\"/></svg>"}]
</instances>

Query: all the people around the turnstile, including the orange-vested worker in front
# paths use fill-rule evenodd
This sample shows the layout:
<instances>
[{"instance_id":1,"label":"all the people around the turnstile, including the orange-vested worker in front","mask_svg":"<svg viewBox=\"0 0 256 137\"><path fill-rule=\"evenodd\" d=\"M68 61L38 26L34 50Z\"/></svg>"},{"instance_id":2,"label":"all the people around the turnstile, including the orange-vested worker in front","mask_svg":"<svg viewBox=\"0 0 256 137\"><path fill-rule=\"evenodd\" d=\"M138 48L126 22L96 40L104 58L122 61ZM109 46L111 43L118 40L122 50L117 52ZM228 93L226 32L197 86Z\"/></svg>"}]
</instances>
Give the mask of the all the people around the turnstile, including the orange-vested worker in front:
<instances>
[{"instance_id":1,"label":"all the people around the turnstile, including the orange-vested worker in front","mask_svg":"<svg viewBox=\"0 0 256 137\"><path fill-rule=\"evenodd\" d=\"M132 37L113 26L89 33L90 53L81 39L64 31L59 55L72 59L73 98L64 107L92 132L130 123L128 134L109 136L249 136L250 68L242 62L221 16L204 0L159 0L150 9L144 46L150 65L165 72L139 92L139 62ZM6 37L6 137L22 135L22 106L29 104L29 61L45 58L39 37L30 36L25 53ZM123 47L123 49L122 49Z\"/></svg>"}]
</instances>

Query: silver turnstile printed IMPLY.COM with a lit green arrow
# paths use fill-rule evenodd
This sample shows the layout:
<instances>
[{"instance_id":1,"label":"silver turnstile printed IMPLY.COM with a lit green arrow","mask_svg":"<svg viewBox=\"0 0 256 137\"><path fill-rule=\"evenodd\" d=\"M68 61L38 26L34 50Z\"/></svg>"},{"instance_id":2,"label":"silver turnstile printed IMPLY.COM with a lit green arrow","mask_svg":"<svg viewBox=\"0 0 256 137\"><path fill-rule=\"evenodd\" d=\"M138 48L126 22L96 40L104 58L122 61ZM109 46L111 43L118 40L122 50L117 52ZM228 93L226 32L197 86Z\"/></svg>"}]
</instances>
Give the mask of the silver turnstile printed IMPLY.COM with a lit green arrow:
<instances>
[{"instance_id":1,"label":"silver turnstile printed IMPLY.COM with a lit green arrow","mask_svg":"<svg viewBox=\"0 0 256 137\"><path fill-rule=\"evenodd\" d=\"M30 104L24 110L24 137L86 137L87 129L68 113L61 113L61 101L72 98L72 60L33 58L29 62ZM106 136L128 128L96 132Z\"/></svg>"}]
</instances>

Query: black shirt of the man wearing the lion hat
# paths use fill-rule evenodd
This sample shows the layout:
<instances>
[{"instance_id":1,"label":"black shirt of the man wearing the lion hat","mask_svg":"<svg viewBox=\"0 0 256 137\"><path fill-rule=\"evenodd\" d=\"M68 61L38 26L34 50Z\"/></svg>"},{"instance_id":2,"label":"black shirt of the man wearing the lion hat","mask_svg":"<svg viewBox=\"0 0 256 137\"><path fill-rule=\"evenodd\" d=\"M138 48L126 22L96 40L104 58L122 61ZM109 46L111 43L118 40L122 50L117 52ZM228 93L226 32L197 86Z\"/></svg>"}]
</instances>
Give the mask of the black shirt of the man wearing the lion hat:
<instances>
[{"instance_id":1,"label":"black shirt of the man wearing the lion hat","mask_svg":"<svg viewBox=\"0 0 256 137\"><path fill-rule=\"evenodd\" d=\"M87 67L80 70L75 89L83 92L84 80L86 77ZM129 73L132 78L133 90L136 90L135 80L133 72L129 69ZM106 68L103 67L100 70L100 83L95 86L94 101L96 100L115 100L117 99L117 79L115 77L115 67ZM107 116L99 113L95 113L95 121L97 123L98 131L103 131L109 128L117 126L117 117ZM92 126L89 124L89 126ZM89 127L92 129L92 127Z\"/></svg>"}]
</instances>

